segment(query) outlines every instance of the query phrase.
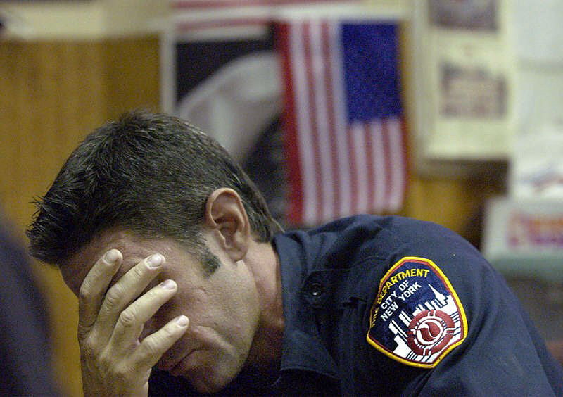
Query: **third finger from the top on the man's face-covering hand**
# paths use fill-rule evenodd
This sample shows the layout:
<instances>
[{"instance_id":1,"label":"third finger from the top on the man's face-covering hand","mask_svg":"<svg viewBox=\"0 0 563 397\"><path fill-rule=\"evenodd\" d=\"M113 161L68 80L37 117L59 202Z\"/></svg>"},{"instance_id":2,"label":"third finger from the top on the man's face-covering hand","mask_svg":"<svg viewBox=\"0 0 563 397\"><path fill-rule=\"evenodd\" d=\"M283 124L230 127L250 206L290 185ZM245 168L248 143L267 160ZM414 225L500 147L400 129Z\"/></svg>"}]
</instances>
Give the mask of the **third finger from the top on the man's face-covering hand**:
<instances>
[{"instance_id":1,"label":"third finger from the top on the man's face-covering hand","mask_svg":"<svg viewBox=\"0 0 563 397\"><path fill-rule=\"evenodd\" d=\"M110 339L115 353L127 351L139 338L145 322L176 294L177 284L172 280L161 282L123 310Z\"/></svg>"}]
</instances>

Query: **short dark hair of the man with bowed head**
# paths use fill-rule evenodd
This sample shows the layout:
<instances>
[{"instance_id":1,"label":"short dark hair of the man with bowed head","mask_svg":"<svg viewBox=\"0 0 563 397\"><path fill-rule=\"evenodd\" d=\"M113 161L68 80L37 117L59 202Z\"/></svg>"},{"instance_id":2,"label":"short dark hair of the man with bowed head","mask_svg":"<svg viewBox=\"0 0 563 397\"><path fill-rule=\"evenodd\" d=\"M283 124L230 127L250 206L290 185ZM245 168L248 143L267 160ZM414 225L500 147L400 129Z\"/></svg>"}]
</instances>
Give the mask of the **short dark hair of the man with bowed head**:
<instances>
[{"instance_id":1,"label":"short dark hair of the man with bowed head","mask_svg":"<svg viewBox=\"0 0 563 397\"><path fill-rule=\"evenodd\" d=\"M217 141L170 115L125 113L91 132L35 201L30 253L61 265L96 234L123 227L177 239L205 256L205 203L220 187L241 196L255 239L271 241L281 231L258 189Z\"/></svg>"}]
</instances>

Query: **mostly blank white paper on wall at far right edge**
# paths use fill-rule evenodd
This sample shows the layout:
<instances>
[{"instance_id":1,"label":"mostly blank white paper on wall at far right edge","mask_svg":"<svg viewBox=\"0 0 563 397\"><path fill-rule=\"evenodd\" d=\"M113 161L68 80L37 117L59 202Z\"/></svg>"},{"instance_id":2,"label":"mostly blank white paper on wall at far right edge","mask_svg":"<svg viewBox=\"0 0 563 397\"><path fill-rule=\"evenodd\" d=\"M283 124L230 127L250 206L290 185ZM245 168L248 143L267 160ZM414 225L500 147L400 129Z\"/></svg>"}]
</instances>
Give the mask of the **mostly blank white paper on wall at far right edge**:
<instances>
[{"instance_id":1,"label":"mostly blank white paper on wall at far right edge","mask_svg":"<svg viewBox=\"0 0 563 397\"><path fill-rule=\"evenodd\" d=\"M515 199L563 199L563 2L515 7L517 134L508 193Z\"/></svg>"}]
</instances>

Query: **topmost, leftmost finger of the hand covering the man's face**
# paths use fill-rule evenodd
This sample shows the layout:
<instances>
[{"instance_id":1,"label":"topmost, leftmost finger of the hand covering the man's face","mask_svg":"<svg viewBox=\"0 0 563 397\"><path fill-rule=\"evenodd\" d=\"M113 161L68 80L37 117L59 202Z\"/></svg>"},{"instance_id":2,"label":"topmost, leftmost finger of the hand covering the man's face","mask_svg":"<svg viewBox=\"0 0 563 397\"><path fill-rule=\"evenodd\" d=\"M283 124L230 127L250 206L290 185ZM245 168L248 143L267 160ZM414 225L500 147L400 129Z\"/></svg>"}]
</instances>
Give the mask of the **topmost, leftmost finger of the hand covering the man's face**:
<instances>
[{"instance_id":1,"label":"topmost, leftmost finger of the hand covering the man's face","mask_svg":"<svg viewBox=\"0 0 563 397\"><path fill-rule=\"evenodd\" d=\"M111 279L118 272L123 257L111 249L91 267L78 293L78 336L82 339L96 322Z\"/></svg>"}]
</instances>

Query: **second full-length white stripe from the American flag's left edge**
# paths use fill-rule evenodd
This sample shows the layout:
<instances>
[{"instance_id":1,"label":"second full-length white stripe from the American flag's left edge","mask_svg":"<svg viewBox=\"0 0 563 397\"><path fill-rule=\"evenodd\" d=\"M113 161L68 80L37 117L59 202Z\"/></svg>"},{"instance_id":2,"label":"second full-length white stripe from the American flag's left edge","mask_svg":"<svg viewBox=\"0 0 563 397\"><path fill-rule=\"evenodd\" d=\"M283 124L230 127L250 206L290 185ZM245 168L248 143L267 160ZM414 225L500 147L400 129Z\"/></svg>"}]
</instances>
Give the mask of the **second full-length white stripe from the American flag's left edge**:
<instances>
[{"instance_id":1,"label":"second full-length white stripe from the American flag's left edge","mask_svg":"<svg viewBox=\"0 0 563 397\"><path fill-rule=\"evenodd\" d=\"M320 166L320 183L322 184L322 211L318 223L332 219L334 205L334 177L332 177L332 155L331 140L329 137L329 114L327 109L327 89L324 83L324 51L322 43L322 25L318 20L311 23L311 66L315 90L315 117L317 122L317 143L319 145L320 158L317 161Z\"/></svg>"}]
</instances>

